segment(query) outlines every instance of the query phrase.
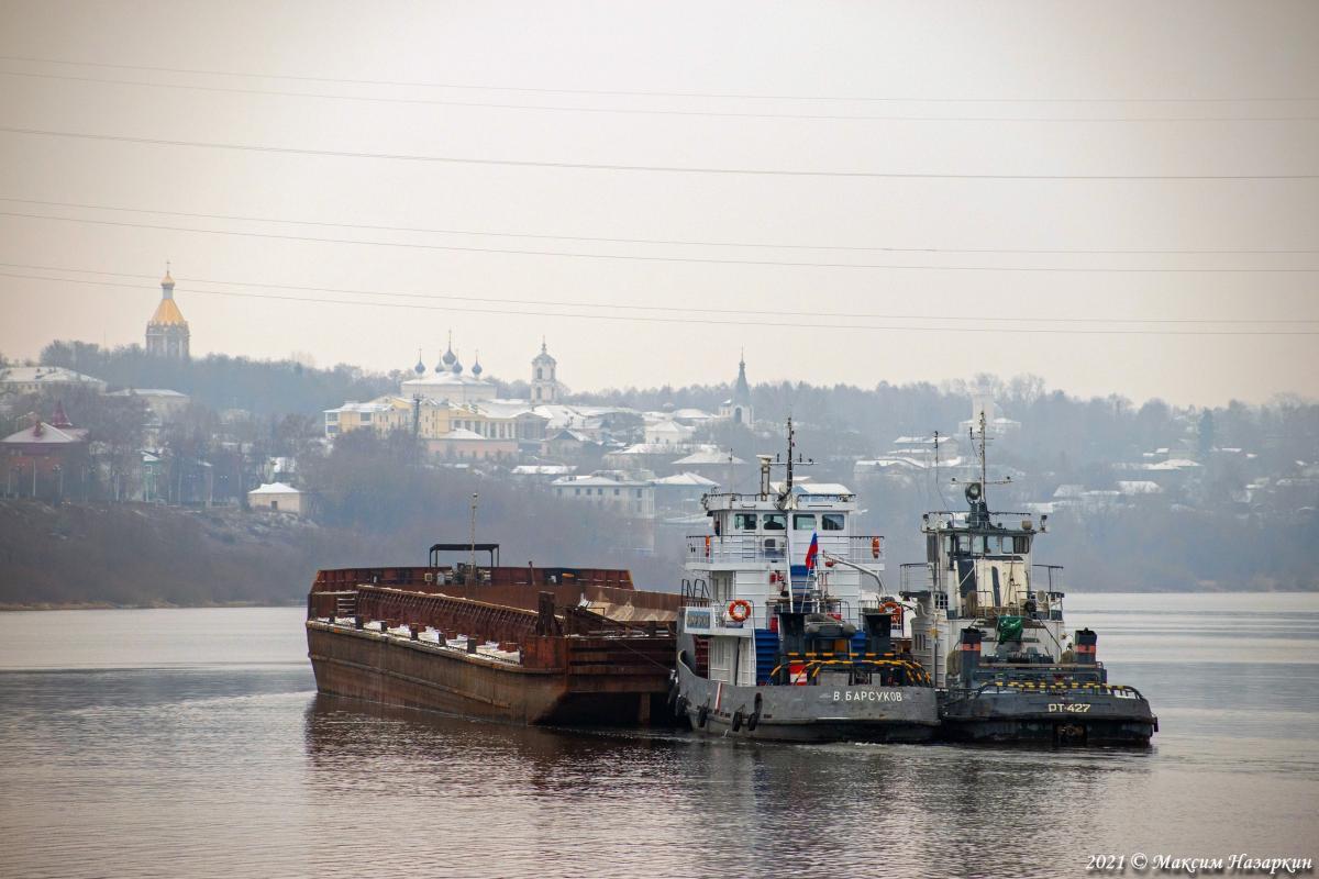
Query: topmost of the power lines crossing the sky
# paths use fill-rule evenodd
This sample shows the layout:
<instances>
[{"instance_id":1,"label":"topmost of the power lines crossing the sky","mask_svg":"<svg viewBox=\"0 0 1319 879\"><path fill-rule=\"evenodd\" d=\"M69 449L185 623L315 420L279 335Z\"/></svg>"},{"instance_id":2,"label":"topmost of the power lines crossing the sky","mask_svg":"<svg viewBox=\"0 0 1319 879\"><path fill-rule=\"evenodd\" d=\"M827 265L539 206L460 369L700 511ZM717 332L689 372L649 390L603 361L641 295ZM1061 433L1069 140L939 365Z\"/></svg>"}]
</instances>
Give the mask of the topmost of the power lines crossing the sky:
<instances>
[{"instance_id":1,"label":"topmost of the power lines crossing the sky","mask_svg":"<svg viewBox=\"0 0 1319 879\"><path fill-rule=\"evenodd\" d=\"M894 96L838 96L838 95L757 95L747 92L689 92L689 91L624 91L599 88L549 88L541 86L489 86L467 83L438 83L397 79L344 79L332 76L306 76L294 74L253 74L235 70L207 70L198 67L153 67L146 65L115 65L94 61L67 61L62 58L33 58L0 55L0 61L71 67L103 67L109 70L146 70L162 74L195 74L203 76L243 76L248 79L288 79L290 82L340 83L350 86L390 86L398 88L452 88L467 91L506 91L541 95L600 95L620 98L700 98L720 100L828 100L851 103L905 103L905 104L1244 104L1244 103L1297 103L1319 98L894 98Z\"/></svg>"}]
</instances>

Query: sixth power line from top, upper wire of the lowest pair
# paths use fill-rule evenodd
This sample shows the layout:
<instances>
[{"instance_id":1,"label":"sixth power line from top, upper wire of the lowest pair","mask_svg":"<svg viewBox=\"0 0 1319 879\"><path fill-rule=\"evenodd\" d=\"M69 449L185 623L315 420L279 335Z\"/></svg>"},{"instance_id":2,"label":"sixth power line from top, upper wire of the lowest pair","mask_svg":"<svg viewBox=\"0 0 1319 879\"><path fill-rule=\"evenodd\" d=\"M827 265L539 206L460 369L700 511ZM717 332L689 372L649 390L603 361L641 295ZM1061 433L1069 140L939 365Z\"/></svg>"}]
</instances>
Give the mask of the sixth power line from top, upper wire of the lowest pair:
<instances>
[{"instance_id":1,"label":"sixth power line from top, upper wire of the lowest pair","mask_svg":"<svg viewBox=\"0 0 1319 879\"><path fill-rule=\"evenodd\" d=\"M96 269L73 269L69 266L49 266L49 265L34 265L28 262L0 262L0 266L11 269L34 269L38 271L65 271L73 274L98 274L108 275L116 278L141 278L144 281L154 281L156 275L152 274L137 274L128 271L102 271ZM401 299L429 299L429 300L458 300L458 302L483 302L495 304L528 304L528 306L554 306L565 308L615 308L623 311L689 311L696 314L727 314L727 315L745 315L752 314L744 308L702 308L698 306L682 306L675 308L673 304L662 306L638 306L629 303L613 303L613 302L571 302L571 300L551 300L551 299L505 299L496 297L480 297L472 294L418 294L418 293L400 293L392 290L360 290L352 287L313 287L302 285L288 285L288 283L262 283L253 281L224 281L216 278L189 278L179 277L181 281L190 283L211 283L223 285L231 287L252 287L260 286L269 290L295 290L303 293L334 293L343 295L367 295L367 297L396 297ZM135 286L135 289L137 289ZM783 318L864 318L876 320L940 320L950 323L1075 323L1075 324L1223 324L1223 323L1236 323L1236 324L1275 324L1275 323L1319 323L1319 318L1006 318L984 315L976 318L959 318L955 315L897 315L897 314L868 314L859 311L785 311L776 308L776 315Z\"/></svg>"}]
</instances>

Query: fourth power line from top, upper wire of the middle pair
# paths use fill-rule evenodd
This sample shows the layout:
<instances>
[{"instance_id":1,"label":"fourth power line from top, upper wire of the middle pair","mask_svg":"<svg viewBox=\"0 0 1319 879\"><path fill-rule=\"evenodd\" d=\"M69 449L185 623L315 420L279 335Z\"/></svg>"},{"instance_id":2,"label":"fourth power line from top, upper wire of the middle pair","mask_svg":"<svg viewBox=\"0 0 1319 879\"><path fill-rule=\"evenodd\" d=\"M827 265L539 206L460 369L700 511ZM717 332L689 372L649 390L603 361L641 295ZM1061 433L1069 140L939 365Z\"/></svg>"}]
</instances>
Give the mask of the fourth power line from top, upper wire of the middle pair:
<instances>
[{"instance_id":1,"label":"fourth power line from top, upper wire of the middle pair","mask_svg":"<svg viewBox=\"0 0 1319 879\"><path fill-rule=\"evenodd\" d=\"M584 235L537 235L529 232L491 232L488 229L433 229L406 225L365 225L360 223L326 223L323 220L284 220L268 216L243 216L232 213L193 213L186 211L154 211L135 207L115 207L112 204L87 204L80 202L44 202L40 199L20 199L0 195L0 202L18 204L40 204L42 207L65 207L92 211L120 211L124 213L154 213L158 216L183 216L197 220L233 220L243 223L278 223L285 225L319 225L335 229L365 229L369 232L409 232L423 235L471 235L492 239L534 239L542 241L594 241L600 244L654 244L670 246L699 248L772 248L777 250L845 250L871 253L1010 253L1010 254L1298 254L1319 253L1319 249L1025 249L1025 248L894 248L894 246L848 246L838 244L774 244L764 241L694 241L687 239L611 239Z\"/></svg>"}]
</instances>

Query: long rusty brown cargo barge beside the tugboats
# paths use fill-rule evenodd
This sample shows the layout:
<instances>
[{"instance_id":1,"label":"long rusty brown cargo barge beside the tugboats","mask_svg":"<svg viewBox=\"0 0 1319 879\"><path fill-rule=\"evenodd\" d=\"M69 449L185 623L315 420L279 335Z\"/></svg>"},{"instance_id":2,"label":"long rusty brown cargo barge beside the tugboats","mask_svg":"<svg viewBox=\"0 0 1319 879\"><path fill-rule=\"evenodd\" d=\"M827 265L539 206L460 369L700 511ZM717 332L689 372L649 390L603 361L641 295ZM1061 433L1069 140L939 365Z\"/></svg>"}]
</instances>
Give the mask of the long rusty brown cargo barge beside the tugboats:
<instances>
[{"instance_id":1,"label":"long rusty brown cargo barge beside the tugboats","mask_svg":"<svg viewBox=\"0 0 1319 879\"><path fill-rule=\"evenodd\" d=\"M485 565L441 553L488 555ZM317 573L317 689L512 723L671 722L681 596L624 569L501 567L499 546L439 544L425 567Z\"/></svg>"}]
</instances>

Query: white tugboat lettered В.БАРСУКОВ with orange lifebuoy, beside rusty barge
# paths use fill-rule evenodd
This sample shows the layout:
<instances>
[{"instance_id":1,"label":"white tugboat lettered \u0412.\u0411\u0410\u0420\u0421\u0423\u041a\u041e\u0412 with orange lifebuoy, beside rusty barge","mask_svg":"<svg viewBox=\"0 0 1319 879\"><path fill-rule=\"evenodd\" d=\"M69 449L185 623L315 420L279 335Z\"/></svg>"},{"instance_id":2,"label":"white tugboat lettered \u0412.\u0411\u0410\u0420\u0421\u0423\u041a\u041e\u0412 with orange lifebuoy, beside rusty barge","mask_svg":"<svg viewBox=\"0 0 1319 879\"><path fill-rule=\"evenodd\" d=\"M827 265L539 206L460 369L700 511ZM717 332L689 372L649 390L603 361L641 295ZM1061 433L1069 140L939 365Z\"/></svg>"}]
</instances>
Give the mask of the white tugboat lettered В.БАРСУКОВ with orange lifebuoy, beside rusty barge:
<instances>
[{"instance_id":1,"label":"white tugboat lettered \u0412.\u0411\u0410\u0420\u0421\u0423\u041a\u041e\u0412 with orange lifebuoy, beside rusty barge","mask_svg":"<svg viewBox=\"0 0 1319 879\"><path fill-rule=\"evenodd\" d=\"M926 741L938 702L894 642L904 609L884 596L882 539L853 532L845 486L794 482L790 419L787 435L783 482L761 456L758 493L706 496L712 530L687 539L674 709L720 735Z\"/></svg>"}]
</instances>

